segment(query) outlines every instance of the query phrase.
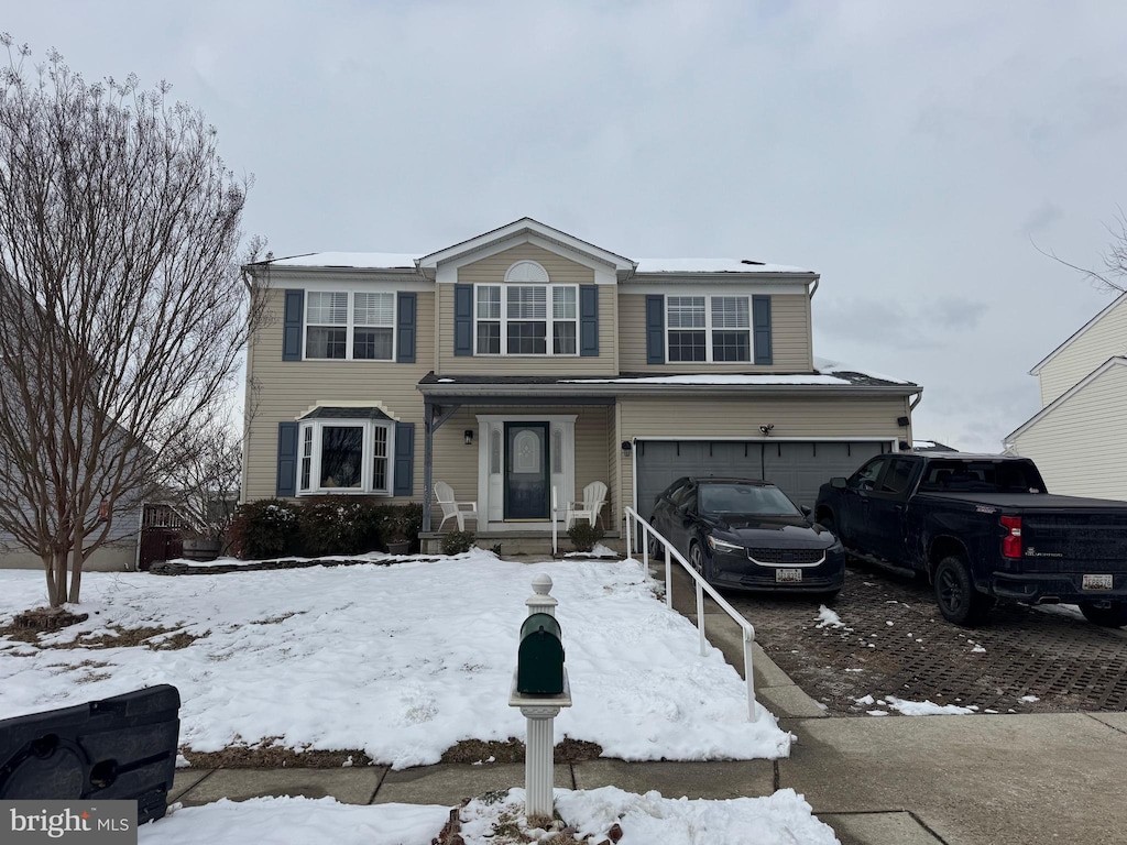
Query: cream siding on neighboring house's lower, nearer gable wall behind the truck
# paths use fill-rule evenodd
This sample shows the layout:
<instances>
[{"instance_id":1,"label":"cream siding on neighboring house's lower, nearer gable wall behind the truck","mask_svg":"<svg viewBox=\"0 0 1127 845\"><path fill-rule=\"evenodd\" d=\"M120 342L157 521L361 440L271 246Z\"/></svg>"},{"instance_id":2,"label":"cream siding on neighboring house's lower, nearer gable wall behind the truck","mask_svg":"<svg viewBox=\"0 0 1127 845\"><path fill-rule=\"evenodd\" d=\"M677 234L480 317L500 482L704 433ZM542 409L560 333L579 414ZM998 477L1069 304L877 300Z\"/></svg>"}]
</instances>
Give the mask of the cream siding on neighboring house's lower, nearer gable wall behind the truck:
<instances>
[{"instance_id":1,"label":"cream siding on neighboring house's lower, nearer gable wall behind the truck","mask_svg":"<svg viewBox=\"0 0 1127 845\"><path fill-rule=\"evenodd\" d=\"M1011 445L1049 492L1127 500L1127 365L1112 366L1033 422Z\"/></svg>"}]
</instances>

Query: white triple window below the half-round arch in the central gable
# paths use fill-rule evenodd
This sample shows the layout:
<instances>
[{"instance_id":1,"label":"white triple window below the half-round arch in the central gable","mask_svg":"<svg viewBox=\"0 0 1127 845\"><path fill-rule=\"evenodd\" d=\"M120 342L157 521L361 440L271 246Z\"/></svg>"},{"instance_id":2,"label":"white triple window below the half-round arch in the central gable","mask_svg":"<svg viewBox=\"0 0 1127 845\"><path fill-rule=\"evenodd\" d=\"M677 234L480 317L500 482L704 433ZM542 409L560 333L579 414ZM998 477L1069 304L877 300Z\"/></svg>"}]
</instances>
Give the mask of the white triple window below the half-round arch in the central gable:
<instances>
[{"instance_id":1,"label":"white triple window below the half-round arch in the central gable","mask_svg":"<svg viewBox=\"0 0 1127 845\"><path fill-rule=\"evenodd\" d=\"M478 355L576 355L576 285L477 285Z\"/></svg>"}]
</instances>

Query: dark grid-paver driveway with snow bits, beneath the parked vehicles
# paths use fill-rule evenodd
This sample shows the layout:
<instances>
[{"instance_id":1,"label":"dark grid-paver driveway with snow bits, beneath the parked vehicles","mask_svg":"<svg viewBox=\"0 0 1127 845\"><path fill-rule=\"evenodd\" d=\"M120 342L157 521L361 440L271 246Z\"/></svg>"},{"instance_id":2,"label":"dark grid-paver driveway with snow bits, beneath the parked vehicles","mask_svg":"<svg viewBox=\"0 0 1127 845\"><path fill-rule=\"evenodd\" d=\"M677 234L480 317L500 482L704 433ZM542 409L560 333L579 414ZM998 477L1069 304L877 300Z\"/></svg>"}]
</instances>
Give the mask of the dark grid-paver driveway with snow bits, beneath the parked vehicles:
<instances>
[{"instance_id":1,"label":"dark grid-paver driveway with snow bits, beneath the parked vehicles","mask_svg":"<svg viewBox=\"0 0 1127 845\"><path fill-rule=\"evenodd\" d=\"M978 712L1127 710L1127 630L1097 628L1064 608L1001 606L982 628L958 628L940 616L925 581L858 562L833 605L843 628L818 628L814 597L726 597L832 714L863 715L875 705L857 699L869 694Z\"/></svg>"}]
</instances>

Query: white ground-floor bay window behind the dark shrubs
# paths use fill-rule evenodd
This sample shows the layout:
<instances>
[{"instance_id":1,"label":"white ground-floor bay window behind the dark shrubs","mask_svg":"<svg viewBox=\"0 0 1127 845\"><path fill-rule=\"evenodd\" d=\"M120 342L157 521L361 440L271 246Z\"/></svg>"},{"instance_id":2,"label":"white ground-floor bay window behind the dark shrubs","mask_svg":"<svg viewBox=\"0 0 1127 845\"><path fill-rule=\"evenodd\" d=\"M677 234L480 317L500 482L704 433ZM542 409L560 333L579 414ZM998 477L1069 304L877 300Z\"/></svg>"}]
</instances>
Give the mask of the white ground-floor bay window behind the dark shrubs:
<instances>
[{"instance_id":1,"label":"white ground-floor bay window behind the dark shrubs","mask_svg":"<svg viewBox=\"0 0 1127 845\"><path fill-rule=\"evenodd\" d=\"M391 495L394 422L314 419L301 424L298 492Z\"/></svg>"}]
</instances>

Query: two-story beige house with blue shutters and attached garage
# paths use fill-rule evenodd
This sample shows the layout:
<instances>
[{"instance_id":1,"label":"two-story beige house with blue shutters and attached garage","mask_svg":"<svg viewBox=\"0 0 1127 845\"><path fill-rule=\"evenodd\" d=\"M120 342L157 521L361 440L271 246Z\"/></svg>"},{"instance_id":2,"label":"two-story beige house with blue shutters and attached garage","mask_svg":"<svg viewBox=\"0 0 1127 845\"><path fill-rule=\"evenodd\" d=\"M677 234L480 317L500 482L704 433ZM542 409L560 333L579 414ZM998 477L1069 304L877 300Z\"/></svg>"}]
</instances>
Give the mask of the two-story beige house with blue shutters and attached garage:
<instances>
[{"instance_id":1,"label":"two-story beige house with blue shutters and attached garage","mask_svg":"<svg viewBox=\"0 0 1127 845\"><path fill-rule=\"evenodd\" d=\"M615 532L684 474L763 477L813 506L912 439L921 388L816 363L809 270L631 260L530 219L429 255L247 269L277 319L248 356L245 500L345 492L429 516L441 480L477 501L479 537L503 536L547 532L552 490L562 522L604 481Z\"/></svg>"}]
</instances>

